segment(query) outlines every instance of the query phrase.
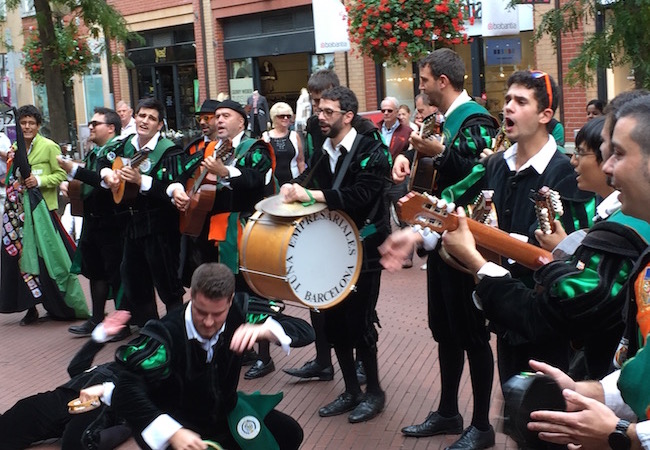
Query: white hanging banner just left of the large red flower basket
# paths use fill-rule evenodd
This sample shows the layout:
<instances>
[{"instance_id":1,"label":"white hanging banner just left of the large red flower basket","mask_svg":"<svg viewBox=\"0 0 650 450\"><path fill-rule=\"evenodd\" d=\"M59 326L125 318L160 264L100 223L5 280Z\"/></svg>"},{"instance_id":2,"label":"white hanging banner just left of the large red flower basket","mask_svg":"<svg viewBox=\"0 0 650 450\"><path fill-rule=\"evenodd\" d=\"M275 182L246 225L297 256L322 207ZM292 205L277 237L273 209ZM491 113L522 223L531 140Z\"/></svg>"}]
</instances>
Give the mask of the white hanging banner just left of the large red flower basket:
<instances>
[{"instance_id":1,"label":"white hanging banner just left of the large red flower basket","mask_svg":"<svg viewBox=\"0 0 650 450\"><path fill-rule=\"evenodd\" d=\"M316 53L350 50L348 13L340 0L312 0Z\"/></svg>"}]
</instances>

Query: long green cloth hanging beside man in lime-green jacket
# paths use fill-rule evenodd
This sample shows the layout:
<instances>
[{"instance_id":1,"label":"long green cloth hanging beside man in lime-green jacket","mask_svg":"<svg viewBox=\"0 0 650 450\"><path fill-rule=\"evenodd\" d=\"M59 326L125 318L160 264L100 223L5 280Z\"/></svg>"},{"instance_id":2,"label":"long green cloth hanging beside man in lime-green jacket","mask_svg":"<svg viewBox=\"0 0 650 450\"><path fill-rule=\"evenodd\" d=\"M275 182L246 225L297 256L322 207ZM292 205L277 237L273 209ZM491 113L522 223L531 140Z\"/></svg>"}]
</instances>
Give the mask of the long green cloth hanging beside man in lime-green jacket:
<instances>
[{"instance_id":1,"label":"long green cloth hanging beside man in lime-green jacket","mask_svg":"<svg viewBox=\"0 0 650 450\"><path fill-rule=\"evenodd\" d=\"M20 270L39 275L38 257L45 263L47 273L63 294L64 303L71 308L77 319L89 317L88 305L77 276L70 273L72 261L54 228L50 211L45 201L39 202L32 211L27 193L23 196L25 222L23 225L23 249ZM38 224L38 226L36 226Z\"/></svg>"}]
</instances>

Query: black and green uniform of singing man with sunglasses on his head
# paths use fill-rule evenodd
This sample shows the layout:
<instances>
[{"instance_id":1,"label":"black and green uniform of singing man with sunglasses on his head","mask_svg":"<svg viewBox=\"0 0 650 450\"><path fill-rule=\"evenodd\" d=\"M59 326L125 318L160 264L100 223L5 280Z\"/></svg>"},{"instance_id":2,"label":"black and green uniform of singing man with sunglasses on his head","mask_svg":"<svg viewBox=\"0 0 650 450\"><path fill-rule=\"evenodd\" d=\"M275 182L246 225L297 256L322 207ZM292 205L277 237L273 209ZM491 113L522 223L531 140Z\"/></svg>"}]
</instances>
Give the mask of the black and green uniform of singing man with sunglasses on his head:
<instances>
[{"instance_id":1,"label":"black and green uniform of singing man with sunglasses on his head","mask_svg":"<svg viewBox=\"0 0 650 450\"><path fill-rule=\"evenodd\" d=\"M516 152L516 144L506 154L511 152ZM527 236L529 242L537 244L534 232L538 223L534 204L529 196L531 190L537 191L543 186L560 193L565 211L561 220L568 233L591 225L591 218L595 212L593 194L578 189L569 158L557 148L542 173L532 166L518 172L513 171L509 168L504 153L496 153L487 158L483 164L475 166L465 179L446 189L442 197L464 205L473 201L482 189L491 189L494 191L492 201L496 208L499 228L508 233ZM502 258L501 265L506 267L514 278L521 279L532 287L533 272L530 269L506 258ZM497 335L501 383L527 370L530 358L568 369L566 337L556 336L555 339L534 343L498 323L492 323L491 328Z\"/></svg>"}]
</instances>

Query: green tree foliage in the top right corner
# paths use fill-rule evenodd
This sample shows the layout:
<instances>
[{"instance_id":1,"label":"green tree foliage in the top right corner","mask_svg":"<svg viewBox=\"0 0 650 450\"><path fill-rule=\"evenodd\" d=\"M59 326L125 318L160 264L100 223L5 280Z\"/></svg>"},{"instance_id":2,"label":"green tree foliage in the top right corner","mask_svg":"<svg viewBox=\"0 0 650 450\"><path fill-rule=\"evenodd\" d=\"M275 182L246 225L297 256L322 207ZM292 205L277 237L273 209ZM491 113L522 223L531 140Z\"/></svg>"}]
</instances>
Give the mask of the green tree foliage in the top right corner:
<instances>
[{"instance_id":1,"label":"green tree foliage in the top right corner","mask_svg":"<svg viewBox=\"0 0 650 450\"><path fill-rule=\"evenodd\" d=\"M617 0L607 6L599 0L569 0L543 15L534 39L549 35L557 49L558 35L578 32L583 21L593 23L598 14L605 15L605 27L585 34L579 55L569 63L568 81L589 85L596 68L630 64L636 87L650 88L649 0Z\"/></svg>"}]
</instances>

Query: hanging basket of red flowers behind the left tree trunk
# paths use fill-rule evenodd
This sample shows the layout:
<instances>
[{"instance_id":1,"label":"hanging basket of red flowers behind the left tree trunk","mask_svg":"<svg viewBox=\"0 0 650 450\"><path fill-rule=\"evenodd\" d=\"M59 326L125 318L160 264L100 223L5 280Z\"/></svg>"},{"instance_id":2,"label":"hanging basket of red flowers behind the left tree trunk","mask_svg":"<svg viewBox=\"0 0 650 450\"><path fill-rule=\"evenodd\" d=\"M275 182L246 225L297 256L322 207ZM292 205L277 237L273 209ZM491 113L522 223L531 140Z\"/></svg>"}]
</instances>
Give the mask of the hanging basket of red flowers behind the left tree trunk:
<instances>
[{"instance_id":1,"label":"hanging basket of red flowers behind the left tree trunk","mask_svg":"<svg viewBox=\"0 0 650 450\"><path fill-rule=\"evenodd\" d=\"M61 68L63 81L70 84L73 76L89 72L93 55L88 43L79 36L73 25L55 25L54 33L57 42L52 64ZM26 32L25 45L23 46L23 67L35 84L45 84L43 45L39 39L38 31L33 27Z\"/></svg>"}]
</instances>

